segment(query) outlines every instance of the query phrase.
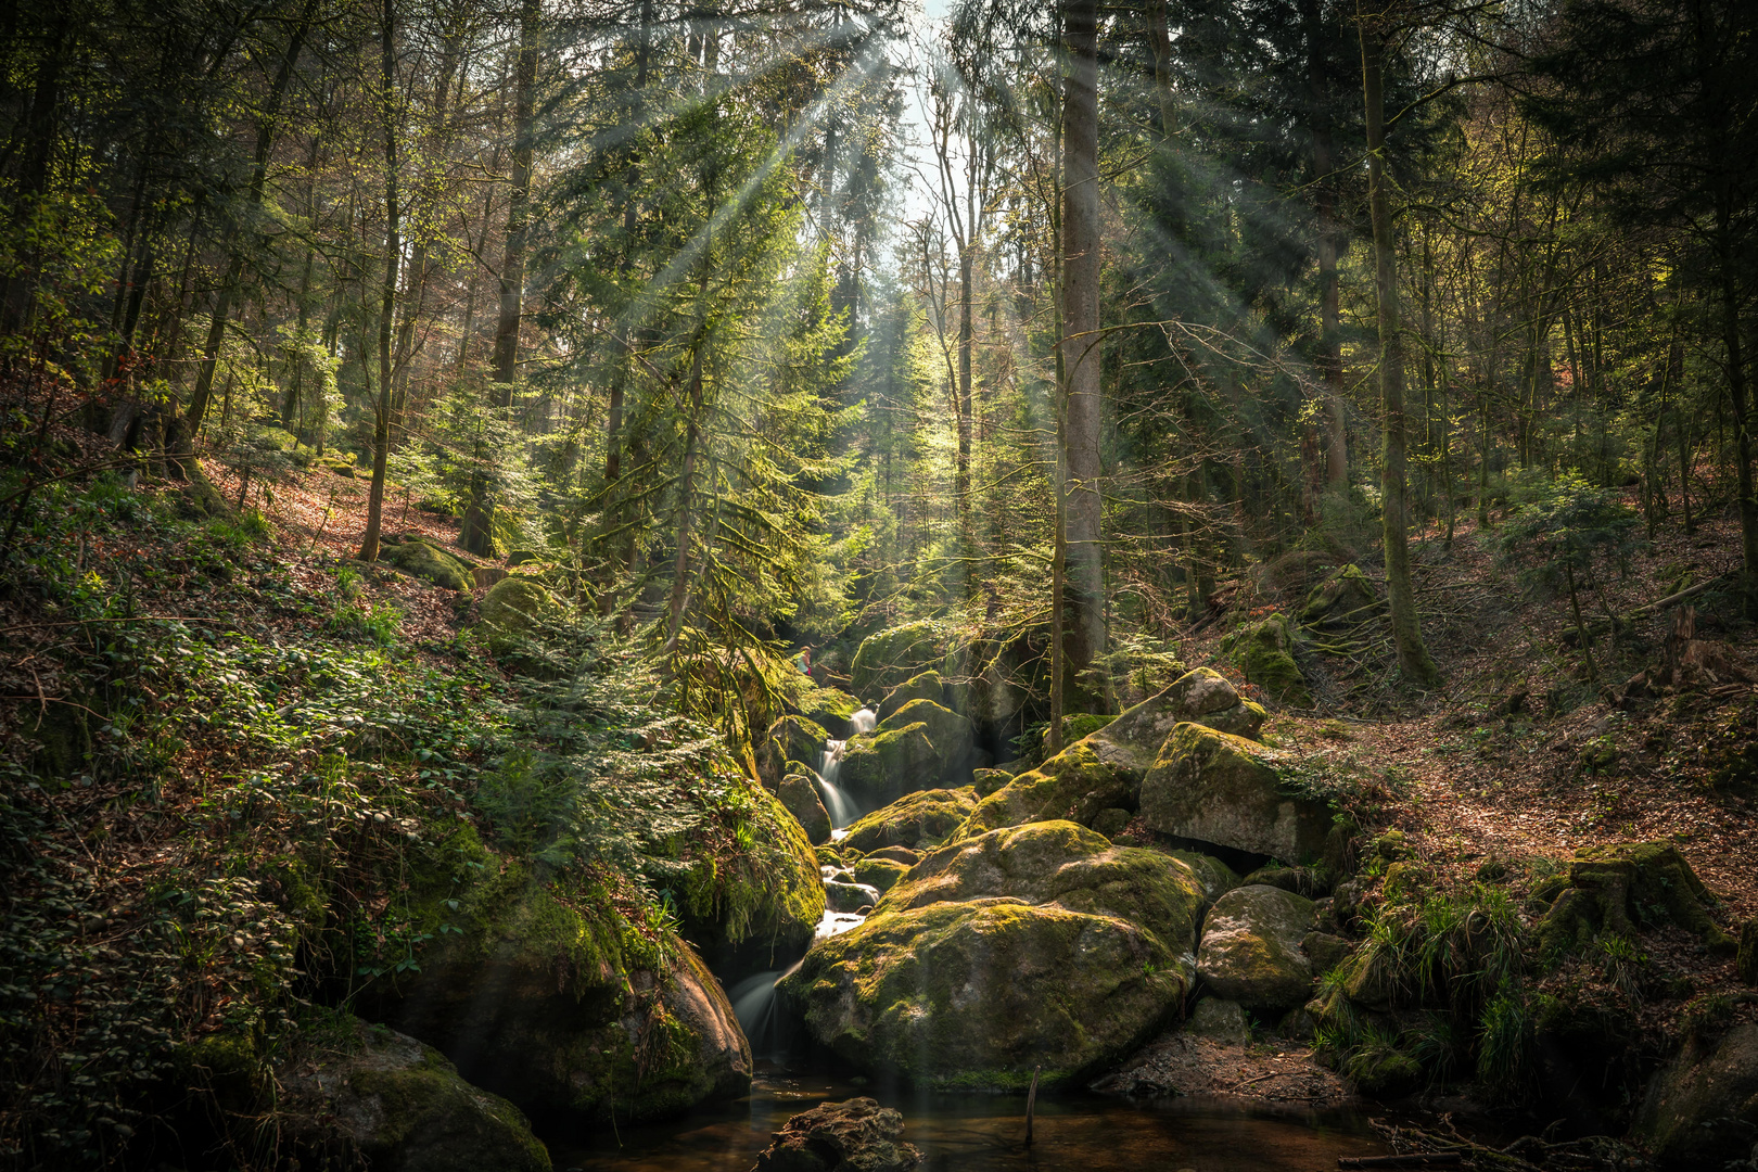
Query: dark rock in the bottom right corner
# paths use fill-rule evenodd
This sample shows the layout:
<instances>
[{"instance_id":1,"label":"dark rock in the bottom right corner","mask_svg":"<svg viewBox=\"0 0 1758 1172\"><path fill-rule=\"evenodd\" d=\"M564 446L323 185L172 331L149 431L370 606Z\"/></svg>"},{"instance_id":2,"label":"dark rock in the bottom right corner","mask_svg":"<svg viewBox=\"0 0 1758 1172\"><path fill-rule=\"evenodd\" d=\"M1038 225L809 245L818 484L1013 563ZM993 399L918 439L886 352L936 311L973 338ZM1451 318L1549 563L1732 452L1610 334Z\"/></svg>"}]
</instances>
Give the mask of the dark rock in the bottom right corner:
<instances>
[{"instance_id":1,"label":"dark rock in the bottom right corner","mask_svg":"<svg viewBox=\"0 0 1758 1172\"><path fill-rule=\"evenodd\" d=\"M1668 1168L1733 1167L1758 1140L1758 1024L1693 1042L1649 1086L1631 1135Z\"/></svg>"}]
</instances>

